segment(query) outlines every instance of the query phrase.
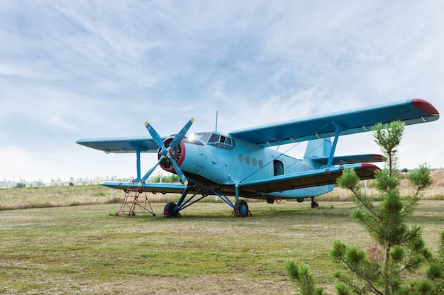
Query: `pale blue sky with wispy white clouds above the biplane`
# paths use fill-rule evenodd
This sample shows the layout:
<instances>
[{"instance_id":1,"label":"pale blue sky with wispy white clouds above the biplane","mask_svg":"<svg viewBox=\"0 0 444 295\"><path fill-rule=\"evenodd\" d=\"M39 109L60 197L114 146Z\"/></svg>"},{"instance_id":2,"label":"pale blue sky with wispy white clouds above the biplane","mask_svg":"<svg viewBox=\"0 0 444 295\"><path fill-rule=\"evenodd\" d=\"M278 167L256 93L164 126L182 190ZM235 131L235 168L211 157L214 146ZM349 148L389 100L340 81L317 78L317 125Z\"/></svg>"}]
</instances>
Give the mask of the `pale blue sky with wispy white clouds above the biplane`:
<instances>
[{"instance_id":1,"label":"pale blue sky with wispy white clouds above the biplane","mask_svg":"<svg viewBox=\"0 0 444 295\"><path fill-rule=\"evenodd\" d=\"M389 101L444 111L444 1L0 1L0 181L135 177L80 138L230 132ZM399 167L444 167L444 120ZM281 147L287 150L290 147ZM303 145L291 147L301 157ZM372 133L337 155L378 153ZM144 154L142 170L156 162ZM143 172L144 173L144 172Z\"/></svg>"}]
</instances>

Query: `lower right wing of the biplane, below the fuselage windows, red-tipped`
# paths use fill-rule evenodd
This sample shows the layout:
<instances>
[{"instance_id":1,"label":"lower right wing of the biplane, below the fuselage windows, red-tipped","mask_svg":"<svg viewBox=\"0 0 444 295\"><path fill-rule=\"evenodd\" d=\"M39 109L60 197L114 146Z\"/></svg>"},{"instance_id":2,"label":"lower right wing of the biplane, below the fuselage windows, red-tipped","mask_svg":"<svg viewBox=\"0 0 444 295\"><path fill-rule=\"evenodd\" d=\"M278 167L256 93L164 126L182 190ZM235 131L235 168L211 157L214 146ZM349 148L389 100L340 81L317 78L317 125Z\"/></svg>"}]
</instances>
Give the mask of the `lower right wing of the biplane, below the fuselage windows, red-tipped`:
<instances>
[{"instance_id":1,"label":"lower right wing of the biplane, below the fuselage windows, red-tipped","mask_svg":"<svg viewBox=\"0 0 444 295\"><path fill-rule=\"evenodd\" d=\"M340 177L343 170L351 168L355 169L355 172L360 179L372 179L374 177L374 172L379 169L372 164L353 164L306 172L296 172L252 182L241 182L239 191L240 194L248 196L254 193L257 194L257 191L266 194L275 191L287 191L289 189L303 189L305 187L335 184L336 179Z\"/></svg>"}]
</instances>

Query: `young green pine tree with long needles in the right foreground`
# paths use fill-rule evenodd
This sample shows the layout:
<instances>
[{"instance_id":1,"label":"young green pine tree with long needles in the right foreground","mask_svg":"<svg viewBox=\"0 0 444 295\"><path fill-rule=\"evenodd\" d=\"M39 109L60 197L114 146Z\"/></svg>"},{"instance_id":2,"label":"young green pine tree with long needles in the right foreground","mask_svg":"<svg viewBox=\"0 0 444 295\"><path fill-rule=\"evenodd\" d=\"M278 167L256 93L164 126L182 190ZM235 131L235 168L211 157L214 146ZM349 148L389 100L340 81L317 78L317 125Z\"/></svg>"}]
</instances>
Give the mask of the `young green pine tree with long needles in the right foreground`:
<instances>
[{"instance_id":1,"label":"young green pine tree with long needles in the right foreground","mask_svg":"<svg viewBox=\"0 0 444 295\"><path fill-rule=\"evenodd\" d=\"M386 168L375 174L376 187L383 201L375 203L362 192L359 177L353 169L346 169L338 178L338 185L353 192L357 208L353 218L374 238L369 250L345 245L340 240L333 243L331 257L342 264L346 272L335 272L338 294L440 294L443 291L443 250L440 259L433 259L422 240L421 228L409 226L407 219L418 203L418 192L431 184L430 170L420 167L410 177L416 187L414 196L401 198L399 174L396 172L396 152L401 142L404 123L392 122L390 126L374 126L374 140L387 157ZM444 232L441 233L444 239ZM441 248L440 248L441 249ZM405 282L405 274L415 272L423 262L430 263L427 278ZM289 261L285 265L301 294L322 294L313 284L309 267ZM438 292L438 293L436 293Z\"/></svg>"}]
</instances>

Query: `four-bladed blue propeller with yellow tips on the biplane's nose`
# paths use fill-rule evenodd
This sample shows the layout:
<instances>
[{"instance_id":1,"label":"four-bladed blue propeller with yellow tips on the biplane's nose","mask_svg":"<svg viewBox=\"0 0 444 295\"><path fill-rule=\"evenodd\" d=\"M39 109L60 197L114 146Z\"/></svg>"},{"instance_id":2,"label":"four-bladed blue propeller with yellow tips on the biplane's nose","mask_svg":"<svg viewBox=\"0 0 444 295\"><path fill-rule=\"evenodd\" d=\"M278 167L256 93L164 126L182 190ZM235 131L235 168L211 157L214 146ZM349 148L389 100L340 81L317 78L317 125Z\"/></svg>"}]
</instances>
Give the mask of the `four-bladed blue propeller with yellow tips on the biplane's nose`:
<instances>
[{"instance_id":1,"label":"four-bladed blue propeller with yellow tips on the biplane's nose","mask_svg":"<svg viewBox=\"0 0 444 295\"><path fill-rule=\"evenodd\" d=\"M191 118L184 127L177 133L177 135L172 138L172 141L168 145L167 140L162 140L159 133L152 128L150 123L145 122L145 127L147 128L148 132L150 133L152 139L155 141L157 146L159 147L159 161L154 165L151 169L148 170L148 172L143 175L142 179L140 179L140 182L138 183L139 187L143 184L143 182L150 177L150 174L155 170L155 168L160 165L161 162L169 161L174 168L174 172L176 172L177 176L179 176L180 180L183 184L188 185L187 177L185 177L184 172L182 172L182 169L180 169L179 165L177 165L176 160L172 157L174 153L176 152L175 149L177 145L179 145L180 141L184 138L184 136L187 134L189 128L192 126L192 123L194 122L194 118ZM167 145L165 145L167 144Z\"/></svg>"}]
</instances>

